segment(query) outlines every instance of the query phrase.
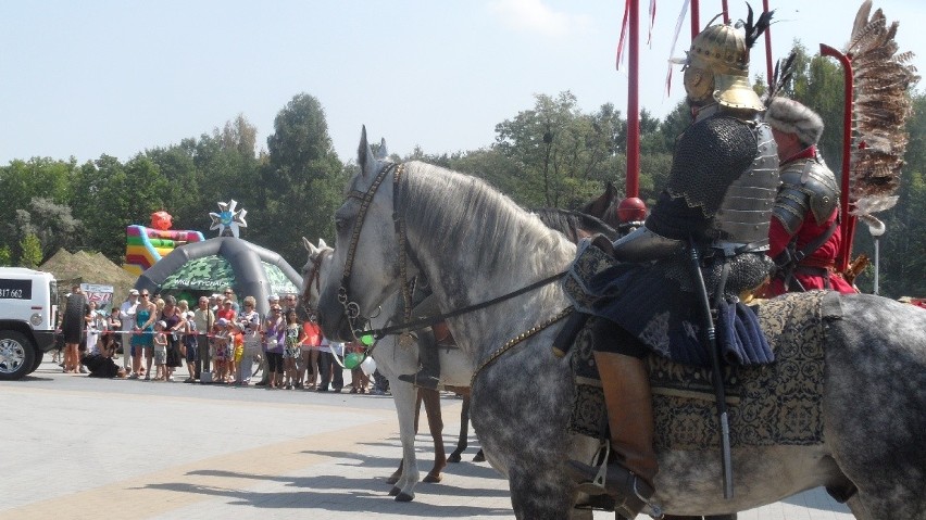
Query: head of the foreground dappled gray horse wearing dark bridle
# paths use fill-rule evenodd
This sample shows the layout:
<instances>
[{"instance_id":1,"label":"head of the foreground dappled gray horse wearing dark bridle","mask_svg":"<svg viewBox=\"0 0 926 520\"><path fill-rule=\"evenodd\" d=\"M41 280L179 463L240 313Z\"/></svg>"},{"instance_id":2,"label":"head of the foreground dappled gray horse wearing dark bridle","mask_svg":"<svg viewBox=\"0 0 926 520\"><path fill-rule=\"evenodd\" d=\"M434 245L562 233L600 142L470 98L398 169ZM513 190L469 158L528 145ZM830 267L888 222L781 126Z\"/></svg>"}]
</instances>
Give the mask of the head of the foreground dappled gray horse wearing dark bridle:
<instances>
[{"instance_id":1,"label":"head of the foreground dappled gray horse wearing dark bridle","mask_svg":"<svg viewBox=\"0 0 926 520\"><path fill-rule=\"evenodd\" d=\"M392 223L393 179L402 166L388 161L385 140L374 153L361 132L360 170L348 182L347 198L335 212L335 251L322 283L318 324L325 335L354 341L368 317L398 290L399 241Z\"/></svg>"}]
</instances>

